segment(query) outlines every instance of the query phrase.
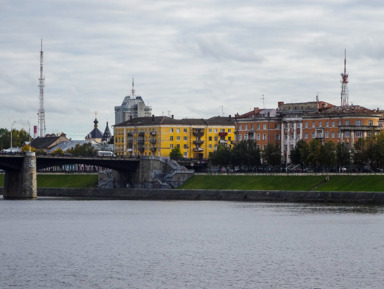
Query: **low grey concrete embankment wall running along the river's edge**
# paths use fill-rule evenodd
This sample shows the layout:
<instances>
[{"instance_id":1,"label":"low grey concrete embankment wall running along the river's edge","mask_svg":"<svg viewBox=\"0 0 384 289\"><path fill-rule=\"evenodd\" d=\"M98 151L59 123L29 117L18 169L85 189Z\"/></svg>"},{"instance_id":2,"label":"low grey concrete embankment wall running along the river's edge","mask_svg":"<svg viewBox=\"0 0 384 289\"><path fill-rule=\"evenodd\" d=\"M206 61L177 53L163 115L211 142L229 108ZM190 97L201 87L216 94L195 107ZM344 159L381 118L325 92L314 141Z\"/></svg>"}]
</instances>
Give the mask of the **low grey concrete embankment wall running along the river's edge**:
<instances>
[{"instance_id":1,"label":"low grey concrete embankment wall running along the river's edge","mask_svg":"<svg viewBox=\"0 0 384 289\"><path fill-rule=\"evenodd\" d=\"M244 202L340 203L384 205L384 192L303 192L177 189L69 189L39 188L38 197L100 198L116 200L222 200Z\"/></svg>"}]
</instances>

